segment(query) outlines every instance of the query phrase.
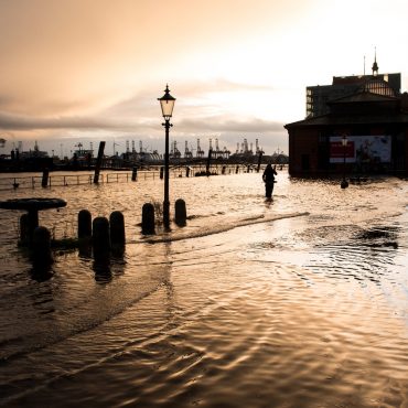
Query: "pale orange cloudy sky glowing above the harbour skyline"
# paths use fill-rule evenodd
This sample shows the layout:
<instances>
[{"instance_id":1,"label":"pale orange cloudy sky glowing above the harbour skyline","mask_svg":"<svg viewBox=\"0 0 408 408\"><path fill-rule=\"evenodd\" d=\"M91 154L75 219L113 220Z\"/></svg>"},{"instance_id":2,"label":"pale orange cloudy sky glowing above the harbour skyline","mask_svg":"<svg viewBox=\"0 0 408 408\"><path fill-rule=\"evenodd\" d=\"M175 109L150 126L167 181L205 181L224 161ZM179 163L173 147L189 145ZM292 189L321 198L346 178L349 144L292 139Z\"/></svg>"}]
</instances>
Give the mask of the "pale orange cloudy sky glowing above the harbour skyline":
<instances>
[{"instance_id":1,"label":"pale orange cloudy sky glowing above the harbour skyline","mask_svg":"<svg viewBox=\"0 0 408 408\"><path fill-rule=\"evenodd\" d=\"M0 153L162 153L167 84L182 154L288 152L307 86L369 74L376 52L408 89L407 15L406 0L0 0Z\"/></svg>"}]
</instances>

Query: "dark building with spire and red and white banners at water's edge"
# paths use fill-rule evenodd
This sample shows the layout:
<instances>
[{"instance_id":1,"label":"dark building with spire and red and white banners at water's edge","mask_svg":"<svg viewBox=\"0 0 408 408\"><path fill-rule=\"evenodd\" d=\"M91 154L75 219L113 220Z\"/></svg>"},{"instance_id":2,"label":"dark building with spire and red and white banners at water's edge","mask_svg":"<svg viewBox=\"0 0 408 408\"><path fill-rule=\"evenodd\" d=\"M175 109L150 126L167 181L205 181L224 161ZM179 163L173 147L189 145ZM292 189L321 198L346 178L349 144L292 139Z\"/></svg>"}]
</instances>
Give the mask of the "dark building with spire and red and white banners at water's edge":
<instances>
[{"instance_id":1,"label":"dark building with spire and red and white banners at water's edge","mask_svg":"<svg viewBox=\"0 0 408 408\"><path fill-rule=\"evenodd\" d=\"M390 84L375 68L346 96L328 90L323 115L284 126L291 175L408 173L408 94L399 93L400 74Z\"/></svg>"}]
</instances>

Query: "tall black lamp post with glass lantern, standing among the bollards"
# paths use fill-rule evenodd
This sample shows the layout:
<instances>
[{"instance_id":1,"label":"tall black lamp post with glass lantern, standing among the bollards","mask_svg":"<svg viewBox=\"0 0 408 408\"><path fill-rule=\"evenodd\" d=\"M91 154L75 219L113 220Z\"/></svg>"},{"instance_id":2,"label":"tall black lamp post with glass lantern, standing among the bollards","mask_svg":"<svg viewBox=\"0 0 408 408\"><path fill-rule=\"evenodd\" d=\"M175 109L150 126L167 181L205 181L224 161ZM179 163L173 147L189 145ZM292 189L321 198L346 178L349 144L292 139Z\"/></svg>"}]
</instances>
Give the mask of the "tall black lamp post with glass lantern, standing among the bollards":
<instances>
[{"instance_id":1,"label":"tall black lamp post with glass lantern, standing among the bollards","mask_svg":"<svg viewBox=\"0 0 408 408\"><path fill-rule=\"evenodd\" d=\"M164 201L163 201L163 225L164 228L170 228L170 201L169 201L169 131L170 127L173 125L170 124L170 118L173 114L175 98L170 95L169 85L165 86L164 95L160 100L161 111L164 118L165 129L165 150L164 150Z\"/></svg>"}]
</instances>

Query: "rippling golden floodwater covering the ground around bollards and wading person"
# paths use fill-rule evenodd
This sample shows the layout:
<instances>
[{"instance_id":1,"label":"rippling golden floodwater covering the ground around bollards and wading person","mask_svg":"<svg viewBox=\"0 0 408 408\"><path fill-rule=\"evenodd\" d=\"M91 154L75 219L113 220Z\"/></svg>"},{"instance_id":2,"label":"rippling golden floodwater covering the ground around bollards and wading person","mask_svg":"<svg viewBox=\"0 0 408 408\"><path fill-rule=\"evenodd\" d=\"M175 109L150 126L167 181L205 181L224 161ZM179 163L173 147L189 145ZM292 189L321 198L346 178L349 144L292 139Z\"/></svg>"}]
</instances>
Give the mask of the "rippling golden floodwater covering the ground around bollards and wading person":
<instances>
[{"instance_id":1,"label":"rippling golden floodwater covering the ground around bollards and wading person","mask_svg":"<svg viewBox=\"0 0 408 408\"><path fill-rule=\"evenodd\" d=\"M125 215L122 259L40 278L0 210L0 402L26 407L408 407L408 183L258 173L170 180L187 225L141 235L155 180L0 192Z\"/></svg>"}]
</instances>

